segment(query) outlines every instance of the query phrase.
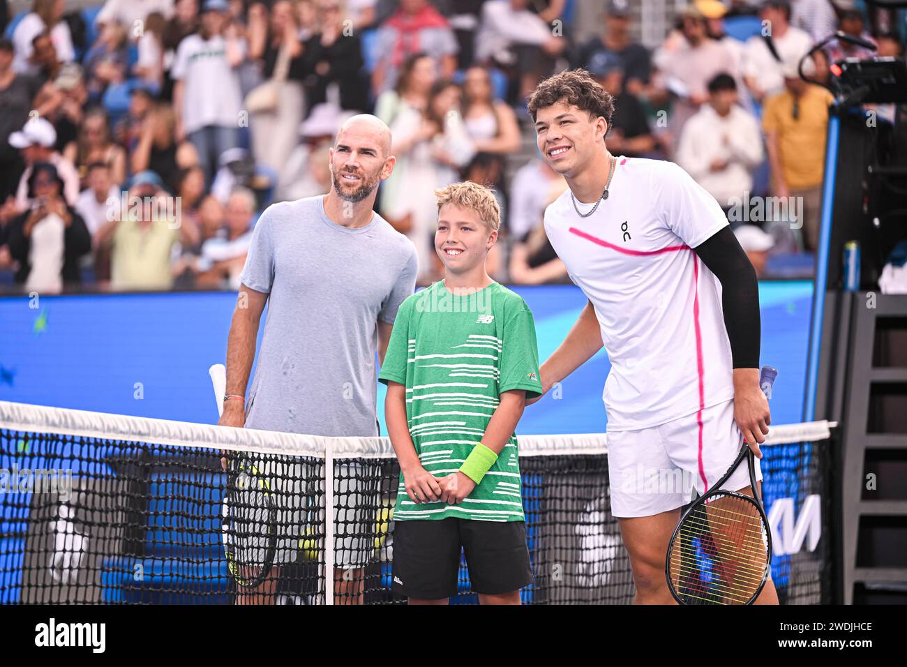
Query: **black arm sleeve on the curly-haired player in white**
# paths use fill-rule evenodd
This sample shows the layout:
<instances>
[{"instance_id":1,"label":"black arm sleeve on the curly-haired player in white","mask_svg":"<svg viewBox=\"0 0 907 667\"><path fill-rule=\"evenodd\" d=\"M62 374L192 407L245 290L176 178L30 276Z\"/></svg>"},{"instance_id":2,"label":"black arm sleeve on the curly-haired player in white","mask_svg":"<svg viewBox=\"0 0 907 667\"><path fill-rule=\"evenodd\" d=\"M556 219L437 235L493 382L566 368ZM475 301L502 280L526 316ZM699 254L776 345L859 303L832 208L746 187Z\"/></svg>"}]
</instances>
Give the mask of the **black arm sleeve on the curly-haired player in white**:
<instances>
[{"instance_id":1,"label":"black arm sleeve on the curly-haired player in white","mask_svg":"<svg viewBox=\"0 0 907 667\"><path fill-rule=\"evenodd\" d=\"M730 227L713 234L694 251L721 282L721 306L734 368L759 368L761 324L756 270Z\"/></svg>"}]
</instances>

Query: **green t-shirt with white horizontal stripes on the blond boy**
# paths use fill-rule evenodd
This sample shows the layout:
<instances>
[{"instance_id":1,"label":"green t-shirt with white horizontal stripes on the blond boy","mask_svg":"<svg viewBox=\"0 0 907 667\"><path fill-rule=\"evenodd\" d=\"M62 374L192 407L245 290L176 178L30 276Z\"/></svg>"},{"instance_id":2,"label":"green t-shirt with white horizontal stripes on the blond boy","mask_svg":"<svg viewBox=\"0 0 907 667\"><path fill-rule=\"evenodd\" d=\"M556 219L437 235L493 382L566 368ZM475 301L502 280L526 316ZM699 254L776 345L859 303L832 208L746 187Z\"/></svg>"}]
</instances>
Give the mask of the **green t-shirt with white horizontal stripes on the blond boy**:
<instances>
[{"instance_id":1,"label":"green t-shirt with white horizontal stripes on the blond boy","mask_svg":"<svg viewBox=\"0 0 907 667\"><path fill-rule=\"evenodd\" d=\"M405 385L406 420L425 470L453 475L482 439L503 391L541 394L532 311L497 282L458 294L436 282L400 306L378 378ZM395 521L447 517L525 520L515 434L462 505L416 504L400 474Z\"/></svg>"}]
</instances>

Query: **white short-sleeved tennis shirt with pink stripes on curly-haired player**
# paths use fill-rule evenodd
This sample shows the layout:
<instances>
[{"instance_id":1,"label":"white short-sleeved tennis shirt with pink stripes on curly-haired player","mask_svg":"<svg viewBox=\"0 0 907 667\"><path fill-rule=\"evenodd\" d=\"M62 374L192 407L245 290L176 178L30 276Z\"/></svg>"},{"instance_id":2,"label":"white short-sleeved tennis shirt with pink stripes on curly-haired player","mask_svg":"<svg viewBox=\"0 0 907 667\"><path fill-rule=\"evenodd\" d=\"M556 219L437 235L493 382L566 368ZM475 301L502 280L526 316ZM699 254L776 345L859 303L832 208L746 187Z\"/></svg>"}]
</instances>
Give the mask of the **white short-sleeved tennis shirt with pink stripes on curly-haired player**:
<instances>
[{"instance_id":1,"label":"white short-sleeved tennis shirt with pink stripes on curly-haired player","mask_svg":"<svg viewBox=\"0 0 907 667\"><path fill-rule=\"evenodd\" d=\"M583 213L593 204L577 201ZM673 162L618 157L609 198L588 218L565 191L545 231L595 307L611 370L608 430L666 424L734 397L721 284L691 249L727 225Z\"/></svg>"}]
</instances>

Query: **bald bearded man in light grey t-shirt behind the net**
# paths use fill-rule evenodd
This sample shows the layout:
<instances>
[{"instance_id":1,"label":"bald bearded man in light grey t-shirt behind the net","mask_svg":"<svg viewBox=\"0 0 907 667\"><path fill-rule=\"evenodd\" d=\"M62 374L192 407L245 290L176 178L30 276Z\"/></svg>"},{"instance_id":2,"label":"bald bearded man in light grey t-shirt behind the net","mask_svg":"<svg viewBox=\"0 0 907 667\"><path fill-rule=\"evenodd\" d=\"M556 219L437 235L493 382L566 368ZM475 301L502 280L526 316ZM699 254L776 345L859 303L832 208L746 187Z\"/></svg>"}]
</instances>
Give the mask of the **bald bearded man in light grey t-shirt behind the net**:
<instances>
[{"instance_id":1,"label":"bald bearded man in light grey t-shirt behind the net","mask_svg":"<svg viewBox=\"0 0 907 667\"><path fill-rule=\"evenodd\" d=\"M219 424L316 436L377 436L375 354L383 361L396 311L413 294L418 270L413 243L372 207L378 183L394 170L391 135L370 115L350 118L330 151L333 187L327 195L268 207L256 224L240 275L239 303L227 349L227 392ZM255 378L246 397L255 358L258 322L268 317ZM301 464L277 464L276 564L296 559L297 543L312 508ZM279 488L292 478L292 488ZM351 479L338 480L337 505L364 500ZM337 516L341 602L361 602L358 544L374 516ZM367 545L366 545L367 546ZM344 555L346 554L346 560ZM361 553L358 555L361 558ZM352 572L350 572L352 571ZM352 576L350 575L352 574ZM237 603L274 602L278 574Z\"/></svg>"}]
</instances>

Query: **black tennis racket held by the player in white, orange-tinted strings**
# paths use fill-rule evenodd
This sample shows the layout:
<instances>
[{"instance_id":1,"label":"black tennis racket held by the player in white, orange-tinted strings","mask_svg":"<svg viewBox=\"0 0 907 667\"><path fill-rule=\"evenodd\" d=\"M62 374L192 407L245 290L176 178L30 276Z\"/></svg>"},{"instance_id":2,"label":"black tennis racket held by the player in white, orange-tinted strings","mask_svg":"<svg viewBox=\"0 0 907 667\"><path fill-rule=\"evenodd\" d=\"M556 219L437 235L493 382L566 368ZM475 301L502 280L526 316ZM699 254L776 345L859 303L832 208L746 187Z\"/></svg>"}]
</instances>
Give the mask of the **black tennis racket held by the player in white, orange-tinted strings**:
<instances>
[{"instance_id":1,"label":"black tennis racket held by the player in white, orange-tinted strings","mask_svg":"<svg viewBox=\"0 0 907 667\"><path fill-rule=\"evenodd\" d=\"M767 366L759 374L766 398L777 375ZM744 458L754 497L721 490ZM766 585L771 561L772 536L756 488L755 457L745 442L727 473L690 505L671 536L668 589L679 604L752 604Z\"/></svg>"}]
</instances>

